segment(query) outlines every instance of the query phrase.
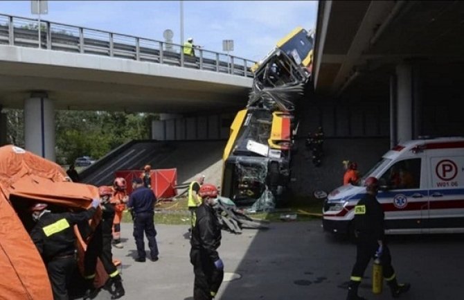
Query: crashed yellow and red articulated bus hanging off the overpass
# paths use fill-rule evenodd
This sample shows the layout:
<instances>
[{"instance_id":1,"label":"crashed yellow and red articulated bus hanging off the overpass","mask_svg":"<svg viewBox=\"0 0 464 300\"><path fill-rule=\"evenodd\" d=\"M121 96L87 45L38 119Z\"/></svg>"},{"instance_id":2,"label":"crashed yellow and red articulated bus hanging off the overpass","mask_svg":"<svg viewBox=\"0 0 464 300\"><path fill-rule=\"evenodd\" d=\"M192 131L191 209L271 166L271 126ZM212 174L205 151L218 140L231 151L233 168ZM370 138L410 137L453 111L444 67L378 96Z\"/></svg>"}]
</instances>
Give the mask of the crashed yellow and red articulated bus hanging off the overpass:
<instances>
[{"instance_id":1,"label":"crashed yellow and red articulated bus hanging off the overpass","mask_svg":"<svg viewBox=\"0 0 464 300\"><path fill-rule=\"evenodd\" d=\"M259 64L247 107L231 125L222 157L222 197L253 211L284 200L290 181L294 112L310 78L313 36L298 27Z\"/></svg>"}]
</instances>

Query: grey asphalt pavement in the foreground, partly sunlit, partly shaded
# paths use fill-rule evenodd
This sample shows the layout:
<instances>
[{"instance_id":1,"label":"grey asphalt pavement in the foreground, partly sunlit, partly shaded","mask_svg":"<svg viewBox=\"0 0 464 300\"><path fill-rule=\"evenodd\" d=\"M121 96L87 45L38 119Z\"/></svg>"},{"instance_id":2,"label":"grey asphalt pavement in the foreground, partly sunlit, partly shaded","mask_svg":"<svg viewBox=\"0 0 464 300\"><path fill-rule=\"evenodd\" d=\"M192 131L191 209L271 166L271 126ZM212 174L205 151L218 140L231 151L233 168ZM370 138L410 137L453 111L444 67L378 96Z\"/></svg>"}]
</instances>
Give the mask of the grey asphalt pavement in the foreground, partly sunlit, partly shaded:
<instances>
[{"instance_id":1,"label":"grey asphalt pavement in the foreground, partly sunlit, partly shaded","mask_svg":"<svg viewBox=\"0 0 464 300\"><path fill-rule=\"evenodd\" d=\"M159 261L137 263L132 224L122 224L125 247L113 250L123 261L126 295L121 299L193 300L187 227L156 228ZM412 285L401 299L462 299L463 235L396 236L389 245L398 279ZM271 223L267 230L245 229L241 235L222 231L219 252L225 272L241 276L222 284L220 300L345 299L355 262L355 245L323 233L320 221ZM369 265L359 294L392 299L386 285L383 294L372 294L371 272ZM96 299L109 294L102 291Z\"/></svg>"}]
</instances>

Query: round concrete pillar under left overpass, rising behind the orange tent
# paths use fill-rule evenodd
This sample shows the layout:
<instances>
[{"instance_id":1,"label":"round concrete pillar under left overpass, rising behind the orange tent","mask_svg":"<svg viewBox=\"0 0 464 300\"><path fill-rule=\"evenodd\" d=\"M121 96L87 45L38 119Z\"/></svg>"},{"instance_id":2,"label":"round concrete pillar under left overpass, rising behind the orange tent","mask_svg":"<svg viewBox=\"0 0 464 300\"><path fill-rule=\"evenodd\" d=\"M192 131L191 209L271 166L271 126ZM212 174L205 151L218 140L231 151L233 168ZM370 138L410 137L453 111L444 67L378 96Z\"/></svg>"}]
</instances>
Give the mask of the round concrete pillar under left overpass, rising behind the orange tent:
<instances>
[{"instance_id":1,"label":"round concrete pillar under left overpass, rising behind the orange tent","mask_svg":"<svg viewBox=\"0 0 464 300\"><path fill-rule=\"evenodd\" d=\"M24 101L26 150L55 161L55 110L46 93L33 93Z\"/></svg>"}]
</instances>

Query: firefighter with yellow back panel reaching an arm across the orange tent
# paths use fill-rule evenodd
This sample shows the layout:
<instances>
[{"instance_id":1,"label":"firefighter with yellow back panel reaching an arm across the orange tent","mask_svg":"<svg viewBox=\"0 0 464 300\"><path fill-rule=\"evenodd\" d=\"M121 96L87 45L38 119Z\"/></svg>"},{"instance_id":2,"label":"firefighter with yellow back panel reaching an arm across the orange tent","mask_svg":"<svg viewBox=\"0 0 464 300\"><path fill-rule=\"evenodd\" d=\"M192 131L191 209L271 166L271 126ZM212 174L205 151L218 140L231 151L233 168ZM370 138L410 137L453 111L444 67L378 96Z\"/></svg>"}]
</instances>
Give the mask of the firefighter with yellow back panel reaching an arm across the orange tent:
<instances>
[{"instance_id":1,"label":"firefighter with yellow back panel reaching an arm across the orange tent","mask_svg":"<svg viewBox=\"0 0 464 300\"><path fill-rule=\"evenodd\" d=\"M34 204L33 220L37 222L30 231L37 250L46 265L54 300L68 300L67 285L75 268L75 236L73 225L92 218L100 200L93 200L91 208L80 213L51 213L47 204Z\"/></svg>"}]
</instances>

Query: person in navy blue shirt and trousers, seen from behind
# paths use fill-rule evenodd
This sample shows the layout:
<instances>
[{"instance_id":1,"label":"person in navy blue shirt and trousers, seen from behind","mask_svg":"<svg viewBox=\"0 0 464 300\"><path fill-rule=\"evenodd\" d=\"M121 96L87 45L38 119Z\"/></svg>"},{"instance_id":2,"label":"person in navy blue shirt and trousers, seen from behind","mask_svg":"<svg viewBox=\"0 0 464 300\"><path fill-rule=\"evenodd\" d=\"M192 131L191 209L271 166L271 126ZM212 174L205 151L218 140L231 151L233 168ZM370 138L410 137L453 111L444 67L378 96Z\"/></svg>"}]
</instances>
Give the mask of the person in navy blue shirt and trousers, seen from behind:
<instances>
[{"instance_id":1,"label":"person in navy blue shirt and trousers, seen from behind","mask_svg":"<svg viewBox=\"0 0 464 300\"><path fill-rule=\"evenodd\" d=\"M138 256L135 261L145 262L145 242L143 233L148 239L150 256L152 261L158 261L157 231L154 229L154 204L157 198L150 188L143 186L143 179L135 178L132 182L132 193L127 202L127 209L130 209L134 220L134 238Z\"/></svg>"}]
</instances>

